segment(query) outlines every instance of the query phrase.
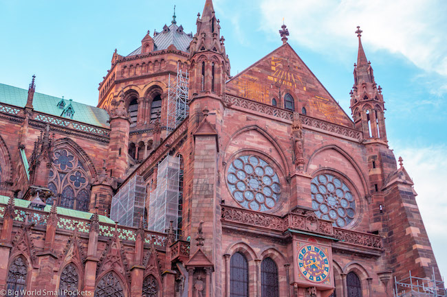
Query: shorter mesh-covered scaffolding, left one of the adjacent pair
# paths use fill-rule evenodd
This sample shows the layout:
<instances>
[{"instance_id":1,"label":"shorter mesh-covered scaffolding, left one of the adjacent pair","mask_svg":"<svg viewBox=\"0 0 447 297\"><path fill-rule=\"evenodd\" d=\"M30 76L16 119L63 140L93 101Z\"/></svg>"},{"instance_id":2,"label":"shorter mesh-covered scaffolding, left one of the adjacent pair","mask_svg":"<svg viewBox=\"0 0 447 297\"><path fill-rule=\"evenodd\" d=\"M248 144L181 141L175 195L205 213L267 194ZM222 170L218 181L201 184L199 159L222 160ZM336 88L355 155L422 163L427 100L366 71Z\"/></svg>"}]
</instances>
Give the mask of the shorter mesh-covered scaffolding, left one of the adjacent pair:
<instances>
[{"instance_id":1,"label":"shorter mesh-covered scaffolding, left one of the adjacent pair","mask_svg":"<svg viewBox=\"0 0 447 297\"><path fill-rule=\"evenodd\" d=\"M110 218L122 226L138 227L144 215L146 187L142 176L134 176L113 196Z\"/></svg>"}]
</instances>

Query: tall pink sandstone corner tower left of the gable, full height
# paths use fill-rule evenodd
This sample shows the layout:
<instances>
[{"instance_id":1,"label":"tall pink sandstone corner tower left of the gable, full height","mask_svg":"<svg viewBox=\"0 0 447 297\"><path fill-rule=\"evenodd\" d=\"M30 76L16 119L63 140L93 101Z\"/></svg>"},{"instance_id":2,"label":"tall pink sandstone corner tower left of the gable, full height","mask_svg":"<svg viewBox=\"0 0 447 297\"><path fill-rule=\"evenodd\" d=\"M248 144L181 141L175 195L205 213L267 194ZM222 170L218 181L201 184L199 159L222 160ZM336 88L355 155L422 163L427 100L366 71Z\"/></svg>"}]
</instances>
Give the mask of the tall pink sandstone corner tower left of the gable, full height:
<instances>
[{"instance_id":1,"label":"tall pink sandstone corner tower left of the gable, full height","mask_svg":"<svg viewBox=\"0 0 447 297\"><path fill-rule=\"evenodd\" d=\"M197 252L209 259L206 267L190 268L193 279L212 276L213 292L221 292L221 193L219 187L219 135L223 126L223 96L225 82L229 76L229 62L220 35L219 20L215 16L212 0L206 0L204 11L197 17L197 32L190 43L190 115L188 130L191 131L190 156L185 176L187 191L184 209L190 213L190 221L184 222L184 236L193 237L200 228L204 246L191 244L190 254ZM188 215L189 217L189 215ZM196 239L197 241L198 239ZM194 257L193 257L194 258ZM188 265L188 264L187 264ZM210 287L204 291L210 292Z\"/></svg>"}]
</instances>

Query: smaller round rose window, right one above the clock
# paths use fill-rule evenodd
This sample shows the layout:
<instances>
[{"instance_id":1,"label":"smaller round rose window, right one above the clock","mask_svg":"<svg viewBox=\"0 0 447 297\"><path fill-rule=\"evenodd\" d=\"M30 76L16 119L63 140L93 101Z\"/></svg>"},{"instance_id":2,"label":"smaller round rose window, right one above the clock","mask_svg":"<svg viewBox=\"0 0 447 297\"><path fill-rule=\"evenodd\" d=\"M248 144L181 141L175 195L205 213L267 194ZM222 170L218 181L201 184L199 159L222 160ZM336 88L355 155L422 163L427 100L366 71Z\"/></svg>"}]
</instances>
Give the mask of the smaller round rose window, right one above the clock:
<instances>
[{"instance_id":1,"label":"smaller round rose window, right one above the clock","mask_svg":"<svg viewBox=\"0 0 447 297\"><path fill-rule=\"evenodd\" d=\"M331 174L320 174L312 180L312 208L317 217L331 219L334 226L345 227L356 215L356 200L351 190Z\"/></svg>"}]
</instances>

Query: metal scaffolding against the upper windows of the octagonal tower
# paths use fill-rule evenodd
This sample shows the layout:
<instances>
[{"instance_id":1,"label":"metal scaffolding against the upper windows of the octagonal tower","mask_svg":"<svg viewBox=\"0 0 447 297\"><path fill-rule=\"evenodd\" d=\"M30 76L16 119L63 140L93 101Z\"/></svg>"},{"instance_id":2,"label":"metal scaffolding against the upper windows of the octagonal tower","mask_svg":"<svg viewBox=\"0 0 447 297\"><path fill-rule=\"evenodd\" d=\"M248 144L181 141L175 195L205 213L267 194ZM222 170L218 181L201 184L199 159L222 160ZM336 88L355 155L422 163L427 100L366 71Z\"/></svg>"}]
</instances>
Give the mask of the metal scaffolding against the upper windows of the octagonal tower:
<instances>
[{"instance_id":1,"label":"metal scaffolding against the upper windows of the octagonal tower","mask_svg":"<svg viewBox=\"0 0 447 297\"><path fill-rule=\"evenodd\" d=\"M177 62L177 74L168 77L168 108L166 112L166 136L171 134L179 123L188 116L188 71L180 69Z\"/></svg>"}]
</instances>

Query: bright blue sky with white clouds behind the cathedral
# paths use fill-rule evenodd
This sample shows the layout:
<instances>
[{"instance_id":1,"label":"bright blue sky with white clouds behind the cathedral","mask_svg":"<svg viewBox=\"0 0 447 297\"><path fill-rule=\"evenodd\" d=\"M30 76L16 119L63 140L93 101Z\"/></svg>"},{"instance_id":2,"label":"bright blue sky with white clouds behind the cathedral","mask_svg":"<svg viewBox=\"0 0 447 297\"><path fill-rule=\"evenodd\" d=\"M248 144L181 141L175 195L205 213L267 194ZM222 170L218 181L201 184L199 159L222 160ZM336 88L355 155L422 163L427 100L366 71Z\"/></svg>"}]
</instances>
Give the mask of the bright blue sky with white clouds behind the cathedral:
<instances>
[{"instance_id":1,"label":"bright blue sky with white clouds behind the cathedral","mask_svg":"<svg viewBox=\"0 0 447 297\"><path fill-rule=\"evenodd\" d=\"M0 0L0 83L96 105L114 49L123 56L149 29L195 32L204 0ZM349 91L362 43L382 86L386 131L415 182L437 263L447 276L447 1L214 0L232 75L289 43L350 115Z\"/></svg>"}]
</instances>

